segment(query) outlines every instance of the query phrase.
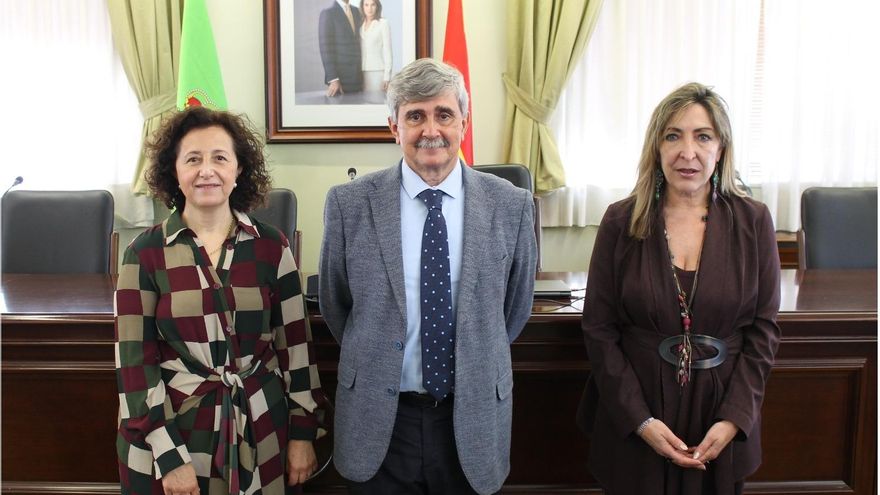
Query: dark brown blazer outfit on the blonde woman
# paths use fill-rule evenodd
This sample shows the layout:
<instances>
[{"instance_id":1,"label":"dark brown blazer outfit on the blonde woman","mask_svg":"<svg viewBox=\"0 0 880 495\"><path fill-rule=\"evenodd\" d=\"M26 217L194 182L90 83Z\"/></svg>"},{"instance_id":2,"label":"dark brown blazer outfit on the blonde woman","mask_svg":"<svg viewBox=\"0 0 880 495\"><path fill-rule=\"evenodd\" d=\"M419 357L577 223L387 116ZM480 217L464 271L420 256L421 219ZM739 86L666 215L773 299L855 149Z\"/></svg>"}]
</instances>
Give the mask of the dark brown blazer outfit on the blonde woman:
<instances>
[{"instance_id":1,"label":"dark brown blazer outfit on the blonde woman","mask_svg":"<svg viewBox=\"0 0 880 495\"><path fill-rule=\"evenodd\" d=\"M761 463L761 404L779 345L773 221L748 198L719 196L710 205L692 331L724 339L731 353L716 368L693 370L681 389L657 351L682 331L663 219L637 241L628 234L632 205L608 207L587 279L582 327L592 375L578 423L591 435L590 470L610 494L732 494ZM694 359L709 350L695 346ZM684 470L635 434L649 416L689 446L721 419L740 433L706 473Z\"/></svg>"}]
</instances>

